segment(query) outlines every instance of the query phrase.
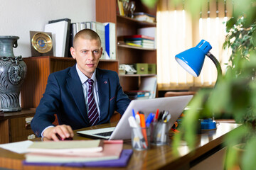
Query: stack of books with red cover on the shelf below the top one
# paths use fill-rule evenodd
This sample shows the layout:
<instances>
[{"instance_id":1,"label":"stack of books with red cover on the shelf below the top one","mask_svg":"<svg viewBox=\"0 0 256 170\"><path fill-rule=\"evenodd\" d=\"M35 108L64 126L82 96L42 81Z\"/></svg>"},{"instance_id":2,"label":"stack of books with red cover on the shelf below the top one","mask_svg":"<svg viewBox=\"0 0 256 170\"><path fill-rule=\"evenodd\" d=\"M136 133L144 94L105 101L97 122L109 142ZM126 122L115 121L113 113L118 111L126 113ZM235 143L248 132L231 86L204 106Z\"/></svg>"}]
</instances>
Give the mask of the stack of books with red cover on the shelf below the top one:
<instances>
[{"instance_id":1,"label":"stack of books with red cover on the shelf below the top one","mask_svg":"<svg viewBox=\"0 0 256 170\"><path fill-rule=\"evenodd\" d=\"M124 36L124 42L127 45L154 49L154 37L146 35Z\"/></svg>"}]
</instances>

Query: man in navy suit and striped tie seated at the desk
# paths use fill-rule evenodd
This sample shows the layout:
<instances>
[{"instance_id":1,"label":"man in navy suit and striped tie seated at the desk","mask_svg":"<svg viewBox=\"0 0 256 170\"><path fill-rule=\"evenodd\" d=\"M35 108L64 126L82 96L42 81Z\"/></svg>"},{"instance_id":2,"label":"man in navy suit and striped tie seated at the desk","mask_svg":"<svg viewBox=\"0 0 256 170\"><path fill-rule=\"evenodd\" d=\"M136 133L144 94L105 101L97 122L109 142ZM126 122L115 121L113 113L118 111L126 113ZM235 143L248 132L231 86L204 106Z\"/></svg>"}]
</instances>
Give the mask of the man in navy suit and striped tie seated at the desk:
<instances>
[{"instance_id":1,"label":"man in navy suit and striped tie seated at the desk","mask_svg":"<svg viewBox=\"0 0 256 170\"><path fill-rule=\"evenodd\" d=\"M55 141L73 137L73 130L109 123L114 111L123 114L129 105L117 72L97 68L102 47L95 31L80 30L70 52L77 64L49 75L36 108L31 128L38 137Z\"/></svg>"}]
</instances>

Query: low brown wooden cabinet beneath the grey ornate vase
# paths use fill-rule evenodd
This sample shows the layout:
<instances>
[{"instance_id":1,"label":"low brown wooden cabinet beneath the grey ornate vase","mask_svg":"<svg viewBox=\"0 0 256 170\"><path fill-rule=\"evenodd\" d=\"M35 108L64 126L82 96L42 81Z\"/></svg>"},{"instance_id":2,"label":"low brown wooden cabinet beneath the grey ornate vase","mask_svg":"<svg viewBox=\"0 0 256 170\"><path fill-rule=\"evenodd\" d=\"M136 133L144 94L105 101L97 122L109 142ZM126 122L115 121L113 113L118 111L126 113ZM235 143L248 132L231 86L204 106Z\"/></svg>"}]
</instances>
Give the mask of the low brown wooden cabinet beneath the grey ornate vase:
<instances>
[{"instance_id":1,"label":"low brown wooden cabinet beneath the grey ornate vase","mask_svg":"<svg viewBox=\"0 0 256 170\"><path fill-rule=\"evenodd\" d=\"M17 112L0 114L0 144L28 140L28 135L33 135L30 123L26 118L32 118L36 108L22 108Z\"/></svg>"}]
</instances>

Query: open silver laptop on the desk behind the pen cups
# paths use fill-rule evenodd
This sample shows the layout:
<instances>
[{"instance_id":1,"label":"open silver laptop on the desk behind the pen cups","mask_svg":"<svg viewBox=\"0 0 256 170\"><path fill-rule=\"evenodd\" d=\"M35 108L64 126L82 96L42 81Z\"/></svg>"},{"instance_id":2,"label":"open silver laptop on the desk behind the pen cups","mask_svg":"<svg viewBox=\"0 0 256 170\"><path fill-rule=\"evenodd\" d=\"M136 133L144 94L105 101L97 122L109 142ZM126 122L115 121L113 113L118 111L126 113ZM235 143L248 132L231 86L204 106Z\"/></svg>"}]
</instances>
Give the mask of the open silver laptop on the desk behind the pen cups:
<instances>
[{"instance_id":1,"label":"open silver laptop on the desk behind the pen cups","mask_svg":"<svg viewBox=\"0 0 256 170\"><path fill-rule=\"evenodd\" d=\"M171 119L169 120L169 128L171 128L178 117L183 112L184 108L191 101L193 95L189 96L173 96L163 98L151 98L142 100L133 100L129 103L127 110L122 115L121 119L113 128L100 128L96 130L82 130L78 131L78 135L90 137L92 139L105 139L105 140L128 140L131 139L131 128L129 126L128 118L132 116L132 109L135 113L142 111L145 118L149 113L156 113L156 110L169 111Z\"/></svg>"}]
</instances>

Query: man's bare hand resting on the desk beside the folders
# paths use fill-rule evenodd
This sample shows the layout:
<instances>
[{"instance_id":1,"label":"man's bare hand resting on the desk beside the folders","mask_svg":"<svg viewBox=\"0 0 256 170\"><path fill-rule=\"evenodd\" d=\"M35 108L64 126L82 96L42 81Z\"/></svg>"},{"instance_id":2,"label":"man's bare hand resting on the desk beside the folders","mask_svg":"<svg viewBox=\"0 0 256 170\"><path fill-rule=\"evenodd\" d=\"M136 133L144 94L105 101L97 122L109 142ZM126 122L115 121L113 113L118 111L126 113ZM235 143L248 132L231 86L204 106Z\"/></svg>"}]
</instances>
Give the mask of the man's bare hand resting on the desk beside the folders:
<instances>
[{"instance_id":1,"label":"man's bare hand resting on the desk beside the folders","mask_svg":"<svg viewBox=\"0 0 256 170\"><path fill-rule=\"evenodd\" d=\"M74 136L74 132L69 125L57 125L55 127L47 128L43 132L43 137L49 140L59 141L59 137L63 140Z\"/></svg>"}]
</instances>

